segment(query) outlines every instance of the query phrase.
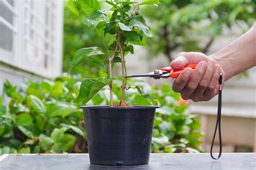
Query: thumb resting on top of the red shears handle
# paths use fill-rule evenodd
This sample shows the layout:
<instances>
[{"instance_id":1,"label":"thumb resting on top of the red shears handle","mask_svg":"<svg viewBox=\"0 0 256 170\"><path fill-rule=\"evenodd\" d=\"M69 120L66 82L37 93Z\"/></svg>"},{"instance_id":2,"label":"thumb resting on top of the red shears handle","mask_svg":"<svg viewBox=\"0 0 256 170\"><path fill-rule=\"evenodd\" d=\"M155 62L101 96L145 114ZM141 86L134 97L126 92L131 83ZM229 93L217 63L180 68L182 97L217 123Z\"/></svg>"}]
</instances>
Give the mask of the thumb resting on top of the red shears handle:
<instances>
[{"instance_id":1,"label":"thumb resting on top of the red shears handle","mask_svg":"<svg viewBox=\"0 0 256 170\"><path fill-rule=\"evenodd\" d=\"M188 64L199 63L200 61L207 61L207 56L203 53L197 52L181 52L177 58L170 63L172 69L181 69Z\"/></svg>"}]
</instances>

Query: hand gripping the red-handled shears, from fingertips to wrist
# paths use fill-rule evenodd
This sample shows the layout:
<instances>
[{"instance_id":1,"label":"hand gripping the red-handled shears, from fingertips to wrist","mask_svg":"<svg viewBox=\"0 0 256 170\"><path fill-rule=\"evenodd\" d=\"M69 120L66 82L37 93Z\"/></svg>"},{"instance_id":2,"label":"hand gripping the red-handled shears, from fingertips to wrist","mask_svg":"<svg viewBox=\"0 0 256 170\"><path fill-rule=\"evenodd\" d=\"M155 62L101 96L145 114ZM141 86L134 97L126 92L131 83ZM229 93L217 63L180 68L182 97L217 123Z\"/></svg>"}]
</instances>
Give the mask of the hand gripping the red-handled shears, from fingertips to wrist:
<instances>
[{"instance_id":1,"label":"hand gripping the red-handled shears, from fingertips to wrist","mask_svg":"<svg viewBox=\"0 0 256 170\"><path fill-rule=\"evenodd\" d=\"M194 71L192 68L186 68L180 73L173 81L172 89L180 93L184 100L209 101L218 94L221 68L217 60L203 53L182 52L170 63L170 66L172 69L181 69L196 63L198 65Z\"/></svg>"}]
</instances>

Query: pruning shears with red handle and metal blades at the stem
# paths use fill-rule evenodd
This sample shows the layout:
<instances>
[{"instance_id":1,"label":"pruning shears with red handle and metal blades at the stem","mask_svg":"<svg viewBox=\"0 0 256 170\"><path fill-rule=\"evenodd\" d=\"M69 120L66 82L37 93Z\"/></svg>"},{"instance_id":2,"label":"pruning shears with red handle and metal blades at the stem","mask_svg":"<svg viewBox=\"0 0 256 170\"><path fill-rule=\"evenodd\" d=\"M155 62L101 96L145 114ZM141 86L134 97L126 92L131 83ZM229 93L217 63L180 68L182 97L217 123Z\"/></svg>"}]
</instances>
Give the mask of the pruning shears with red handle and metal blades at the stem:
<instances>
[{"instance_id":1,"label":"pruning shears with red handle and metal blades at the stem","mask_svg":"<svg viewBox=\"0 0 256 170\"><path fill-rule=\"evenodd\" d=\"M186 65L182 69L172 69L171 67L164 67L154 70L154 72L147 73L147 74L137 74L137 75L129 75L126 77L153 77L154 79L160 79L160 78L177 78L179 74L185 69L185 68L192 68L193 70L197 67L197 64L194 65Z\"/></svg>"}]
</instances>

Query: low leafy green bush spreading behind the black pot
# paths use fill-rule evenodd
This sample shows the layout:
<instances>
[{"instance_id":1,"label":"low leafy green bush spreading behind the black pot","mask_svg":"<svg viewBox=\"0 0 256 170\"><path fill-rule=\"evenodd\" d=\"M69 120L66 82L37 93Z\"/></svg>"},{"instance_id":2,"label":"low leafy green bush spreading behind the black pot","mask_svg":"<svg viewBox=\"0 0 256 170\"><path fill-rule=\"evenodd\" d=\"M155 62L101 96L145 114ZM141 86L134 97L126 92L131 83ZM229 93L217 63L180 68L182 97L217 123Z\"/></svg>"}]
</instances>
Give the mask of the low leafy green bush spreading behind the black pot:
<instances>
[{"instance_id":1,"label":"low leafy green bush spreading behind the black pot","mask_svg":"<svg viewBox=\"0 0 256 170\"><path fill-rule=\"evenodd\" d=\"M84 117L71 101L78 95L82 79L77 76L58 77L54 81L29 81L21 88L4 83L9 104L0 96L0 155L4 153L87 153ZM156 96L161 109L154 121L152 152L198 152L204 136L200 123L186 105L179 104L180 95L170 86L161 88L146 82L130 82L144 87ZM122 91L120 77L113 86L113 100L119 101ZM89 105L109 105L110 89L105 87ZM125 100L134 105L150 105L137 89L126 91Z\"/></svg>"}]
</instances>

